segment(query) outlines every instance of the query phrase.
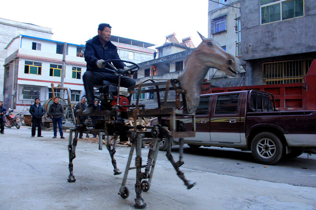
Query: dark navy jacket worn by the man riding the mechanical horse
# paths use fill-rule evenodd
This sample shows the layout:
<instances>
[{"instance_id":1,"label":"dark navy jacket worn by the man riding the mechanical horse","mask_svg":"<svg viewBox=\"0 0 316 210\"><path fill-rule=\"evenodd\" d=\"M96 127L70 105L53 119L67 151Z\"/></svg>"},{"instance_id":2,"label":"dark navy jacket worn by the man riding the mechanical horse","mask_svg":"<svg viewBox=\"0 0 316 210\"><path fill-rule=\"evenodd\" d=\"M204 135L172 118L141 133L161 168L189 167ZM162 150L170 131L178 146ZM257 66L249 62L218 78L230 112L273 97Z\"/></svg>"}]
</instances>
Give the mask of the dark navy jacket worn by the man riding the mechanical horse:
<instances>
[{"instance_id":1,"label":"dark navy jacket worn by the man riding the mechanical horse","mask_svg":"<svg viewBox=\"0 0 316 210\"><path fill-rule=\"evenodd\" d=\"M105 68L98 68L97 61L101 59L104 61L111 59L120 59L120 56L117 53L117 47L113 45L111 41L105 43L105 46L103 47L99 39L99 35L96 35L95 37L87 41L84 55L85 61L87 62L87 71L114 73L114 70L110 71ZM123 62L112 63L116 68L123 68L124 66L126 66Z\"/></svg>"}]
</instances>

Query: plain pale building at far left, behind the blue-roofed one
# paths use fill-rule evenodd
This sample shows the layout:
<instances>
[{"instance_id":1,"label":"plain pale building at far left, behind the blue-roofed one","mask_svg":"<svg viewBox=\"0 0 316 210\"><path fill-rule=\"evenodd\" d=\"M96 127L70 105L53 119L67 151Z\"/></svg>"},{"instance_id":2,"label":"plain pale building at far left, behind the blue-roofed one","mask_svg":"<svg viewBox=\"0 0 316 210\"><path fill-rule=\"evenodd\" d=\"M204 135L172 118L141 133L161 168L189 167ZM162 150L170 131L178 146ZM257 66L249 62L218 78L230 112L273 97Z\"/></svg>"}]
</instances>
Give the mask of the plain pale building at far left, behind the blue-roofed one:
<instances>
[{"instance_id":1,"label":"plain pale building at far left, behind the blue-roofed one","mask_svg":"<svg viewBox=\"0 0 316 210\"><path fill-rule=\"evenodd\" d=\"M3 98L4 82L4 59L7 57L5 47L14 37L21 35L36 36L39 38L51 39L52 29L36 26L30 23L21 23L13 20L0 18L0 100Z\"/></svg>"}]
</instances>

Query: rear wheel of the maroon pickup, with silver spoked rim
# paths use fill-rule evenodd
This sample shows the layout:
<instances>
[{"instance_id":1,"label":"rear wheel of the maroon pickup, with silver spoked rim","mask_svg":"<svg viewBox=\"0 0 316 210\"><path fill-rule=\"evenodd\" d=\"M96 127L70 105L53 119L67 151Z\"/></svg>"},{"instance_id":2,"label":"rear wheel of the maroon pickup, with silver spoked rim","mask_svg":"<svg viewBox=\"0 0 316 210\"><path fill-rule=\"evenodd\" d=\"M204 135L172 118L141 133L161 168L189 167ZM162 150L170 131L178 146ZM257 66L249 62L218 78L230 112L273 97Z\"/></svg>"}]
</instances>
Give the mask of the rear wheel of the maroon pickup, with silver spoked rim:
<instances>
[{"instance_id":1,"label":"rear wheel of the maroon pickup, with silver spoked rim","mask_svg":"<svg viewBox=\"0 0 316 210\"><path fill-rule=\"evenodd\" d=\"M283 154L283 145L273 133L261 132L253 138L251 153L256 161L272 165L279 162Z\"/></svg>"}]
</instances>

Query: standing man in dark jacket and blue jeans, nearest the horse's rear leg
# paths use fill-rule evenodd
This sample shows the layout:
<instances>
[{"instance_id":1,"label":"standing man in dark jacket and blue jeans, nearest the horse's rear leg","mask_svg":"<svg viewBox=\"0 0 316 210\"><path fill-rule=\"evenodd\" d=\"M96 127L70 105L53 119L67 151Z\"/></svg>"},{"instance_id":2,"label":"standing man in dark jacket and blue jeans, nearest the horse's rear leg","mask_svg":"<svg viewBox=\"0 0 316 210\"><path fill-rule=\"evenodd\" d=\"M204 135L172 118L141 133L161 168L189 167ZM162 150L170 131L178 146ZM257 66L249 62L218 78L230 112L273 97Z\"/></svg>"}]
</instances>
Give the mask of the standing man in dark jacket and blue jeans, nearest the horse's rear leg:
<instances>
[{"instance_id":1,"label":"standing man in dark jacket and blue jeans, nearest the horse's rear leg","mask_svg":"<svg viewBox=\"0 0 316 210\"><path fill-rule=\"evenodd\" d=\"M58 103L59 98L55 97L53 104L49 108L49 115L53 120L53 127L54 127L54 136L53 139L57 138L57 123L58 123L58 129L59 129L59 134L60 138L64 139L64 133L63 133L63 116L64 116L64 108L63 105Z\"/></svg>"}]
</instances>

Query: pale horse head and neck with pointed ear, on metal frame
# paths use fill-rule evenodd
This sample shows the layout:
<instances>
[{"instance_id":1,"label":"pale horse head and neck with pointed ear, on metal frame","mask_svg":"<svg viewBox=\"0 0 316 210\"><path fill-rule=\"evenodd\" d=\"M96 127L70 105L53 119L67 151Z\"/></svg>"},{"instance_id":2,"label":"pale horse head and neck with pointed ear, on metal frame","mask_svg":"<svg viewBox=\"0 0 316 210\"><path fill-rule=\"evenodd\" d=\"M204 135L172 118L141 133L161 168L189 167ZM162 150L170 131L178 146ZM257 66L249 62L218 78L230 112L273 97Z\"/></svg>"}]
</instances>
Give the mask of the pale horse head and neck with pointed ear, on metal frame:
<instances>
[{"instance_id":1,"label":"pale horse head and neck with pointed ear, on metal frame","mask_svg":"<svg viewBox=\"0 0 316 210\"><path fill-rule=\"evenodd\" d=\"M240 72L238 59L212 38L205 38L199 32L202 42L188 57L186 66L179 76L180 86L186 91L188 113L194 113L200 102L202 82L210 68L223 70L227 75L236 77Z\"/></svg>"}]
</instances>

